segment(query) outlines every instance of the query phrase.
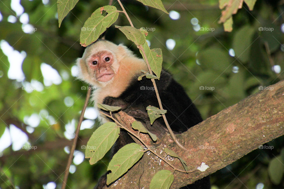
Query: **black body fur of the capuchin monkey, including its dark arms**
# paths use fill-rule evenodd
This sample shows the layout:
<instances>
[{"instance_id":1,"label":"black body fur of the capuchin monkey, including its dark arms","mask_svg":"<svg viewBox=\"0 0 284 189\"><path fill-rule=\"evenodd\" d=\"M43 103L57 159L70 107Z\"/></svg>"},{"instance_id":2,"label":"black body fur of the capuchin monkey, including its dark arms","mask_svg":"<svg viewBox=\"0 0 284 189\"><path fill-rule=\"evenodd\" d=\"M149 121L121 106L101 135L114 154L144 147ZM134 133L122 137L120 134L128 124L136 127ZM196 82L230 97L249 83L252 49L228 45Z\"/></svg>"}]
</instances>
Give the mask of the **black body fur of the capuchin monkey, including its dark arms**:
<instances>
[{"instance_id":1,"label":"black body fur of the capuchin monkey, including its dark arms","mask_svg":"<svg viewBox=\"0 0 284 189\"><path fill-rule=\"evenodd\" d=\"M137 81L138 76L133 77L130 86L119 97L106 97L104 104L121 106L122 110L138 120L142 120L146 127L158 137L167 132L162 117L156 119L151 126L146 107L149 105L159 107L156 93L151 79L145 77ZM185 93L183 87L172 76L162 70L159 80L155 80L163 108L167 110L166 118L174 133L182 133L202 121L201 115L191 99ZM189 139L190 140L190 139ZM126 131L120 131L120 136L112 149L112 156L124 145L134 142ZM106 174L103 175L95 189L106 185ZM195 183L182 187L182 189L210 189L209 176Z\"/></svg>"}]
</instances>

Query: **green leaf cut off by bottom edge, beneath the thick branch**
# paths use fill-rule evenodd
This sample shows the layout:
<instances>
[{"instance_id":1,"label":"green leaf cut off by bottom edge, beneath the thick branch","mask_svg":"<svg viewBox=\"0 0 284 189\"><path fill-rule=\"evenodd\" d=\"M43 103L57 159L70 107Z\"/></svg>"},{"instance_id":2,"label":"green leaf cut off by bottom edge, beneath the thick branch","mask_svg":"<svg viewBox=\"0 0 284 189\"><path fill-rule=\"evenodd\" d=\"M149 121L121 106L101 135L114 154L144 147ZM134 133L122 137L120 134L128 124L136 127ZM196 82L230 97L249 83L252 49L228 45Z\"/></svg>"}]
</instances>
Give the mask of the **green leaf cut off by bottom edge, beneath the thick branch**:
<instances>
[{"instance_id":1,"label":"green leaf cut off by bottom edge, beneath the thick branch","mask_svg":"<svg viewBox=\"0 0 284 189\"><path fill-rule=\"evenodd\" d=\"M150 189L168 189L174 181L174 175L169 170L157 172L151 180Z\"/></svg>"}]
</instances>

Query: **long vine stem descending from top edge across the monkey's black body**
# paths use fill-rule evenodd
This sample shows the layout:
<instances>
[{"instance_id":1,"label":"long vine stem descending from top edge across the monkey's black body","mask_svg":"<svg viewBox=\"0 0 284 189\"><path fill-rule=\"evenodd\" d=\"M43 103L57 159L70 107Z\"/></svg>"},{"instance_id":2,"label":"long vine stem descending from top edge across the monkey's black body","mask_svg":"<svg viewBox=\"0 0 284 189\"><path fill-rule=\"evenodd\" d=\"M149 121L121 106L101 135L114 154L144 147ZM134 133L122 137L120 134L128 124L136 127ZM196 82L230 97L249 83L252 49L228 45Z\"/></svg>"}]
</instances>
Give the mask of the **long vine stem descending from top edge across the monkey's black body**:
<instances>
[{"instance_id":1,"label":"long vine stem descending from top edge across the monkey's black body","mask_svg":"<svg viewBox=\"0 0 284 189\"><path fill-rule=\"evenodd\" d=\"M129 18L129 16L128 16L128 14L127 14L127 12L126 12L125 9L124 9L122 3L120 2L120 0L117 0L117 1L118 1L118 3L120 4L120 6L121 6L121 8L122 8L122 12L125 14L125 16L126 16L126 18L128 19L130 25L131 25L132 27L134 27L133 24L132 24L132 22L131 22L131 20L130 20L130 18ZM137 46L137 48L142 51L143 56L144 56L144 58L145 58L145 62L146 62L146 64L147 64L147 66L148 66L149 72L150 72L150 74L153 75L153 72L152 72L151 67L150 67L150 65L149 65L149 61L148 61L148 59L147 59L146 53L145 53L145 51L144 51L144 48L142 47L142 45ZM159 92L158 92L158 88L157 88L155 79L152 78L151 81L152 81L152 83L153 83L153 85L154 85L154 89L155 89L155 92L156 92L156 96L157 96L157 100L158 100L158 103L159 103L159 107L160 107L161 110L164 110L164 109L163 109L163 106L162 106L161 98L160 98L160 96L159 96ZM168 129L170 135L172 136L172 139L175 141L175 143L178 145L178 147L179 147L180 149L183 149L183 150L185 150L185 151L188 151L188 149L186 149L182 144L180 144L180 142L179 142L178 139L176 138L175 134L172 132L172 129L170 128L170 125L169 125L169 123L168 123L168 120L167 120L166 116L165 116L165 115L162 115L162 117L163 117L163 119L164 119L164 122L165 122L165 124L166 124L166 126L167 126L167 129Z\"/></svg>"}]
</instances>

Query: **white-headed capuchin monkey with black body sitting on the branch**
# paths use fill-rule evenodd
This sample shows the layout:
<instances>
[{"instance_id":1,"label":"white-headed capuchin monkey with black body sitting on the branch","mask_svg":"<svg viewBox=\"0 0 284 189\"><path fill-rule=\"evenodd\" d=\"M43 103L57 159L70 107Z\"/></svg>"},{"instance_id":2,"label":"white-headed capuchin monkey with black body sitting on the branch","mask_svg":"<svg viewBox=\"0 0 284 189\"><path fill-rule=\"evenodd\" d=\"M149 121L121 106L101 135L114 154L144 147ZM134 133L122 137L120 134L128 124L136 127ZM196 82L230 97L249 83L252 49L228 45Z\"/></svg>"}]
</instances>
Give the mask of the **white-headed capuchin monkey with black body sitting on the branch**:
<instances>
[{"instance_id":1,"label":"white-headed capuchin monkey with black body sitting on the branch","mask_svg":"<svg viewBox=\"0 0 284 189\"><path fill-rule=\"evenodd\" d=\"M138 76L143 74L142 71L148 71L148 67L143 59L137 58L127 47L99 40L85 49L83 57L77 59L77 66L78 78L96 87L91 96L95 107L97 103L120 106L125 113L142 121L158 138L168 132L162 117L156 119L153 125L150 124L146 107L159 107L156 93L151 79L143 77L138 81ZM156 79L155 82L163 108L167 110L167 120L174 133L183 133L202 121L199 111L183 87L167 71L162 70L160 79ZM102 115L99 115L99 119L102 123L109 121ZM121 129L111 156L122 146L132 142L134 141L128 133ZM100 178L95 189L106 186L108 173ZM182 189L210 189L209 176Z\"/></svg>"}]
</instances>

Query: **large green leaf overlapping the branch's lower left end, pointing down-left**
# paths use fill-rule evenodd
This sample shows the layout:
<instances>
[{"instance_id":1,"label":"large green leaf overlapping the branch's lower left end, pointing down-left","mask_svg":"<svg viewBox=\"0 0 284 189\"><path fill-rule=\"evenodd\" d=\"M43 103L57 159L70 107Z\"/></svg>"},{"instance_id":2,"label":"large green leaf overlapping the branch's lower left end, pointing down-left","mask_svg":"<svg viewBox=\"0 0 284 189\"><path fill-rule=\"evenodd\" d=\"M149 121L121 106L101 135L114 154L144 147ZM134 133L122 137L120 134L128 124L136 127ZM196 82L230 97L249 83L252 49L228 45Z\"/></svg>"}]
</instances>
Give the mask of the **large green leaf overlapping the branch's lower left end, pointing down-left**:
<instances>
[{"instance_id":1,"label":"large green leaf overlapping the branch's lower left end, pointing down-left","mask_svg":"<svg viewBox=\"0 0 284 189\"><path fill-rule=\"evenodd\" d=\"M107 175L106 184L109 185L123 175L143 156L143 153L141 146L136 143L127 144L119 149L107 167L107 170L112 172Z\"/></svg>"}]
</instances>

